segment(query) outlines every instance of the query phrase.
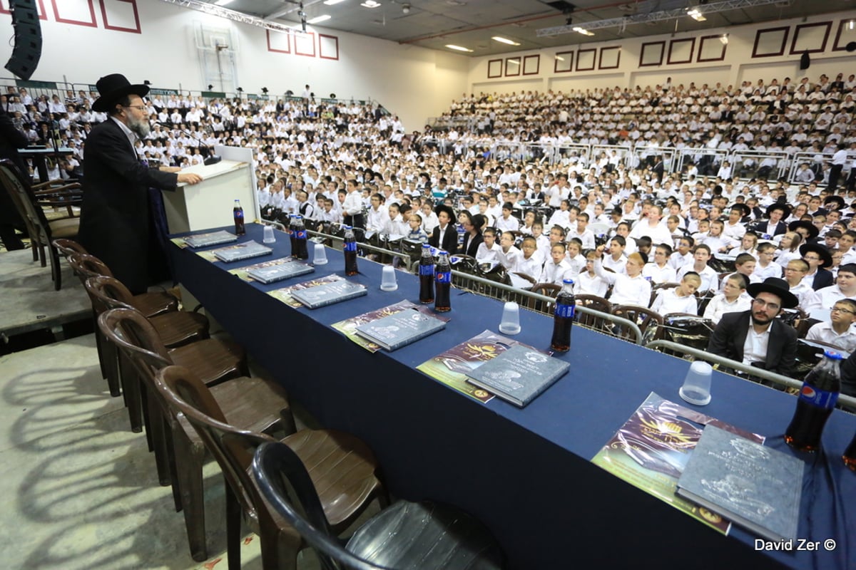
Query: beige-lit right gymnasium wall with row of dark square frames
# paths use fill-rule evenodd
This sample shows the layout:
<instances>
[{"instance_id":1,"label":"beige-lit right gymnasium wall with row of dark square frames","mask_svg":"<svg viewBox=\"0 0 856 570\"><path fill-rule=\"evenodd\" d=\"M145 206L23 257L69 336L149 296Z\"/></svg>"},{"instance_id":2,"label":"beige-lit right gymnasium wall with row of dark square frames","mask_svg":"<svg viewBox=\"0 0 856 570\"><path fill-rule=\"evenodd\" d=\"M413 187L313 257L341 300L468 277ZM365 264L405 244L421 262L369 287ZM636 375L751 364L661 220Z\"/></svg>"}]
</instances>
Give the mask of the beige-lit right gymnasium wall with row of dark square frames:
<instances>
[{"instance_id":1,"label":"beige-lit right gymnasium wall with row of dark square frames","mask_svg":"<svg viewBox=\"0 0 856 570\"><path fill-rule=\"evenodd\" d=\"M843 48L848 41L856 41L856 30L850 30L847 21L856 19L856 10L839 12L827 15L812 16L807 19L794 19L787 21L767 22L749 26L730 26L728 28L710 28L704 32L676 32L662 36L648 36L645 38L627 38L625 40L612 40L609 42L596 42L576 44L577 33L569 33L565 36L568 44L562 47L546 50L526 50L505 53L499 56L482 56L473 58L470 62L470 73L468 77L469 91L508 93L512 91L528 91L530 89L545 91L568 91L571 89L593 89L603 87L614 87L619 85L658 85L663 84L667 78L672 79L673 85L689 85L694 81L696 85L707 83L711 86L716 83L727 85L740 85L743 80L753 83L758 79L769 81L770 79L783 79L790 77L794 82L807 76L812 81L816 80L821 73L826 73L834 79L837 73L844 73L845 78L849 73L856 73L856 52L848 53L844 50L835 50L835 39L841 29L838 38L838 47ZM845 25L840 28L841 22ZM829 22L829 25L826 25ZM637 26L641 26L637 25ZM854 26L856 27L856 26ZM773 28L772 31L770 29ZM787 31L775 30L775 28L787 28ZM534 30L530 30L534 32ZM756 36L758 31L764 31L758 38L756 48ZM597 33L597 30L595 31ZM698 62L699 44L702 36L719 36L728 33L728 46L725 56L721 61ZM785 37L787 33L787 37ZM797 38L794 45L794 37ZM690 41L694 38L692 56L690 56ZM824 41L825 39L825 41ZM672 62L669 63L669 47L676 41ZM663 62L660 65L640 66L640 53L643 44L663 43ZM768 53L776 53L784 44L781 56L760 56ZM705 55L703 59L713 59L711 52L718 51L720 46L718 38L707 38L704 40ZM621 48L618 67L613 69L600 69L601 48ZM792 47L796 53L791 54ZM576 56L583 50L597 50L594 69L590 71L576 70ZM811 67L800 71L800 54L802 50L811 51ZM645 48L646 53L651 53L651 47ZM570 72L558 72L554 70L556 54L566 51L574 51L574 70ZM613 50L607 50L608 54L615 54ZM753 53L755 56L753 56ZM517 76L505 77L504 70L507 67L507 58L526 56L538 56L538 73L526 77L523 83L515 79ZM718 53L717 53L718 56ZM564 57L567 57L564 56ZM494 75L496 70L502 70L502 77L489 78L489 62L502 59L497 65L494 63ZM687 61L687 63L677 63ZM582 66L589 68L589 65ZM612 67L609 62L604 67ZM514 70L514 67L511 68ZM530 86L533 85L533 86ZM541 85L539 88L534 85Z\"/></svg>"}]
</instances>

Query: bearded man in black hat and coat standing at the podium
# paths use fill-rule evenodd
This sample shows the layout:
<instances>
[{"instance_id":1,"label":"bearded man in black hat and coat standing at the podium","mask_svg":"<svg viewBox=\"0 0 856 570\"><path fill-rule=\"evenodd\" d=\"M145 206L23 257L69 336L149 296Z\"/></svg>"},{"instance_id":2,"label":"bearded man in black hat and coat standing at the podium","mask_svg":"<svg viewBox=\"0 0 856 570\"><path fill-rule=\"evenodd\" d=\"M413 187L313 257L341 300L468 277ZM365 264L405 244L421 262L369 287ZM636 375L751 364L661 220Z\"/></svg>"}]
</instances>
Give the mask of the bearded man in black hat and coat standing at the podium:
<instances>
[{"instance_id":1,"label":"bearded man in black hat and coat standing at the podium","mask_svg":"<svg viewBox=\"0 0 856 570\"><path fill-rule=\"evenodd\" d=\"M142 97L148 85L131 85L119 73L95 84L100 97L92 109L110 117L86 138L80 244L110 267L116 279L134 293L163 279L163 251L157 242L149 188L174 190L196 184L198 174L177 167L152 168L140 162L134 142L149 133L148 108ZM227 206L228 207L228 206ZM160 272L160 274L158 274Z\"/></svg>"}]
</instances>

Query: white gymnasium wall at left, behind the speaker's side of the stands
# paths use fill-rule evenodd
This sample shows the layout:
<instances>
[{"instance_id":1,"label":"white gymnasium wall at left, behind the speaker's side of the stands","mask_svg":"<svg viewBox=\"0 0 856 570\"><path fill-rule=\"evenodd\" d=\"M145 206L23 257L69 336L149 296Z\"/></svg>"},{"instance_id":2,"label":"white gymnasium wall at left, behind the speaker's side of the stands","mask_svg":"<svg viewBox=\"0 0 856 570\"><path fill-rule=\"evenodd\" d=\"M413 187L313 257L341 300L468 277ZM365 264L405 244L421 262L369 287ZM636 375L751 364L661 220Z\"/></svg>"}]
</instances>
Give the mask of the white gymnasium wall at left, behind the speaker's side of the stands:
<instances>
[{"instance_id":1,"label":"white gymnasium wall at left, behind the speaker's side of the stands","mask_svg":"<svg viewBox=\"0 0 856 570\"><path fill-rule=\"evenodd\" d=\"M375 99L414 130L424 126L426 117L442 113L467 88L466 56L346 32L308 28L338 38L338 60L324 59L317 36L312 44L314 57L297 55L294 44L282 44L282 38L274 38L274 47L288 47L291 53L272 52L260 27L158 0L39 0L37 4L39 13L44 12L43 47L34 80L94 84L104 74L123 73L132 81L148 79L154 87L201 91L209 81L204 78L194 29L204 26L223 29L229 49L235 50L235 85L227 82L221 89L211 81L215 91L241 86L248 93L259 93L266 86L271 94L288 89L300 94L308 83L318 97L336 93ZM8 0L0 0L0 26L11 37L8 5ZM139 27L140 32L108 26ZM0 59L6 62L11 51L11 41L0 44ZM335 52L327 50L325 55L335 56ZM6 71L0 76L11 78Z\"/></svg>"}]
</instances>

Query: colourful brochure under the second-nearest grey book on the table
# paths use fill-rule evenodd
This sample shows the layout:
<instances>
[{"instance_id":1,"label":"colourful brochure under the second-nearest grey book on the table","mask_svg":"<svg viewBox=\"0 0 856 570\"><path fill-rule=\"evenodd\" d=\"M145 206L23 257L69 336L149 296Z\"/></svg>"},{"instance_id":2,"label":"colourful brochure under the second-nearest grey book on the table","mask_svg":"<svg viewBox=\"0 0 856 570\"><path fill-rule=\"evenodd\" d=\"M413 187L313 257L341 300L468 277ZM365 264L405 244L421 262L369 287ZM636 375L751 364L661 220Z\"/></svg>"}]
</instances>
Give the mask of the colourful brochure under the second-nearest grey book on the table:
<instances>
[{"instance_id":1,"label":"colourful brochure under the second-nearest grey book on the table","mask_svg":"<svg viewBox=\"0 0 856 570\"><path fill-rule=\"evenodd\" d=\"M419 364L416 369L467 396L486 403L493 399L493 394L467 382L467 374L518 344L526 346L496 332L484 331Z\"/></svg>"}]
</instances>

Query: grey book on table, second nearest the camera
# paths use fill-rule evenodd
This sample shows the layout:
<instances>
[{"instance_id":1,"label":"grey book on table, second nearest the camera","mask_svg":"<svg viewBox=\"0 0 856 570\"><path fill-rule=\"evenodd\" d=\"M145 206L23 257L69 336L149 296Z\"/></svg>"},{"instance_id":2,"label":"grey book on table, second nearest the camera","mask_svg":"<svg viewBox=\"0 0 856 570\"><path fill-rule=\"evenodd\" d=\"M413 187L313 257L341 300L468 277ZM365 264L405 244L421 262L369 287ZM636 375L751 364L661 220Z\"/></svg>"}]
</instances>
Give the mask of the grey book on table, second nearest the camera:
<instances>
[{"instance_id":1,"label":"grey book on table, second nearest the camera","mask_svg":"<svg viewBox=\"0 0 856 570\"><path fill-rule=\"evenodd\" d=\"M523 408L568 372L566 361L517 344L468 372L467 382Z\"/></svg>"}]
</instances>

